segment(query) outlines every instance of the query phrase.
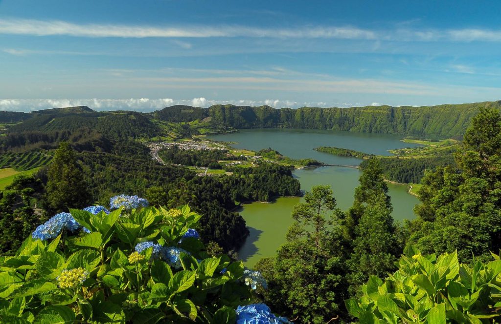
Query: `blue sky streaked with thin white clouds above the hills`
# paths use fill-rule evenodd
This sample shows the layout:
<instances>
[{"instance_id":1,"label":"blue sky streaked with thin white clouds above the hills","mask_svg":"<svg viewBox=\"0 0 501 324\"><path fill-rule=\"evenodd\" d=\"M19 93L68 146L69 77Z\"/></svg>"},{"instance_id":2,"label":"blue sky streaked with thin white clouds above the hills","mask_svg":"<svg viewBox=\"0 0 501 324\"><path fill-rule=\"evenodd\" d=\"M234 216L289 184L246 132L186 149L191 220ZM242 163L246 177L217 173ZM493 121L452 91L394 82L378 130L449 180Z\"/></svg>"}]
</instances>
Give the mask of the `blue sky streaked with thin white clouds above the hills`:
<instances>
[{"instance_id":1,"label":"blue sky streaked with thin white clouds above the hills","mask_svg":"<svg viewBox=\"0 0 501 324\"><path fill-rule=\"evenodd\" d=\"M0 0L0 110L501 99L499 1Z\"/></svg>"}]
</instances>

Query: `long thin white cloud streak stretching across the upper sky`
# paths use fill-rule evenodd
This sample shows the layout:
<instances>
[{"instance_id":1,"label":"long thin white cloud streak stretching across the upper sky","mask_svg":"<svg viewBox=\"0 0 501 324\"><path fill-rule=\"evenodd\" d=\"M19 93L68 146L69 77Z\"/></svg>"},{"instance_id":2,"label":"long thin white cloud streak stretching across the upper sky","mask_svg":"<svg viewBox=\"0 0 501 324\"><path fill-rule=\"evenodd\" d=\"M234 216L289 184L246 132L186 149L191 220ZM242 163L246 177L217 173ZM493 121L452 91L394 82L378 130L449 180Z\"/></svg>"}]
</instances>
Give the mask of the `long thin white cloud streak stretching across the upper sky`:
<instances>
[{"instance_id":1,"label":"long thin white cloud streak stretching across the upper sky","mask_svg":"<svg viewBox=\"0 0 501 324\"><path fill-rule=\"evenodd\" d=\"M62 20L36 20L21 18L0 19L0 33L35 36L68 35L77 37L255 37L255 38L333 38L396 41L501 41L501 30L463 29L411 29L396 25L393 29L370 30L356 26L299 26L295 28L250 27L242 25L184 25L153 26L126 24L78 24ZM174 40L184 49L192 44ZM5 50L4 50L5 51Z\"/></svg>"}]
</instances>

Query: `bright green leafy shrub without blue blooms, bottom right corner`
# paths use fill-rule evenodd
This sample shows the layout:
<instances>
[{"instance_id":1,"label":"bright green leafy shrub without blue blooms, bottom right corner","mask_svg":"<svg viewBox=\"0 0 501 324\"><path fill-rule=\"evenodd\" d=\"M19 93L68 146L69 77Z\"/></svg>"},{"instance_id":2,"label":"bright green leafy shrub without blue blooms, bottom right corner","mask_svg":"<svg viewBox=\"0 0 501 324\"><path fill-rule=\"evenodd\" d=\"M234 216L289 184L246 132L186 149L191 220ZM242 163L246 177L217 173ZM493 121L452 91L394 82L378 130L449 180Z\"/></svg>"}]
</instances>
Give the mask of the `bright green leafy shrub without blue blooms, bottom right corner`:
<instances>
[{"instance_id":1,"label":"bright green leafy shrub without blue blooms, bottom right corner","mask_svg":"<svg viewBox=\"0 0 501 324\"><path fill-rule=\"evenodd\" d=\"M501 260L472 267L457 253L421 255L409 247L399 269L383 281L371 276L359 299L346 300L361 323L491 323L501 312Z\"/></svg>"}]
</instances>

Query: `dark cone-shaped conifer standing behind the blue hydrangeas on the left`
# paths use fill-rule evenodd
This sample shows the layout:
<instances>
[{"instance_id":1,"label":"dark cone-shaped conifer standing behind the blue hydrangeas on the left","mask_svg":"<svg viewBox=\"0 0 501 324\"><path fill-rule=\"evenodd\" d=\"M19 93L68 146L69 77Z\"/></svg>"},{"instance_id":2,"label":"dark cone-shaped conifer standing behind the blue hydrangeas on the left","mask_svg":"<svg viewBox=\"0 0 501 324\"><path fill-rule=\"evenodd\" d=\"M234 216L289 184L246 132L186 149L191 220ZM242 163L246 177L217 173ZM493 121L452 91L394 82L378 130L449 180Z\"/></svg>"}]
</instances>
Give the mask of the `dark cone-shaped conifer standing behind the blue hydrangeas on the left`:
<instances>
[{"instance_id":1,"label":"dark cone-shaped conifer standing behind the blue hydrangeas on the left","mask_svg":"<svg viewBox=\"0 0 501 324\"><path fill-rule=\"evenodd\" d=\"M59 144L48 168L46 186L48 209L68 210L69 206L83 208L90 202L90 193L75 152L68 142Z\"/></svg>"}]
</instances>

